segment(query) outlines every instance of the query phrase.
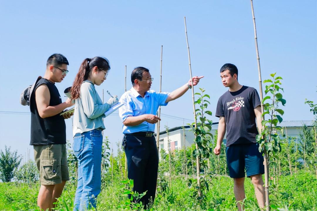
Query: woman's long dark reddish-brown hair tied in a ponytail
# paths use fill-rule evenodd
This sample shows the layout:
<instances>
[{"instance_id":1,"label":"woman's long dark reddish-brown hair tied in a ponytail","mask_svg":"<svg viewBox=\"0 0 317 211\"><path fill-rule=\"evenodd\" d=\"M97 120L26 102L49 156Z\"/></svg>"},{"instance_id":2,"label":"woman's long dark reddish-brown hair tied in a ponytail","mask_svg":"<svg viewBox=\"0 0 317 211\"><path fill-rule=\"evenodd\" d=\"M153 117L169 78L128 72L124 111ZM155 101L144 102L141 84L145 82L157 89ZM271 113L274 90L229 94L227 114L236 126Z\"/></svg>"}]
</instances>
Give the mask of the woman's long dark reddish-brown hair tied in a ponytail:
<instances>
[{"instance_id":1,"label":"woman's long dark reddish-brown hair tied in a ponytail","mask_svg":"<svg viewBox=\"0 0 317 211\"><path fill-rule=\"evenodd\" d=\"M80 88L81 88L81 84L82 82L84 82L85 80L87 80L91 69L97 66L98 69L104 70L104 71L109 71L110 70L110 65L109 65L109 61L108 59L104 58L104 57L99 57L96 56L94 58L86 58L84 59L84 61L81 63L80 67L79 67L79 71L75 77L73 86L71 88L71 98L72 99L77 99L80 97Z\"/></svg>"}]
</instances>

